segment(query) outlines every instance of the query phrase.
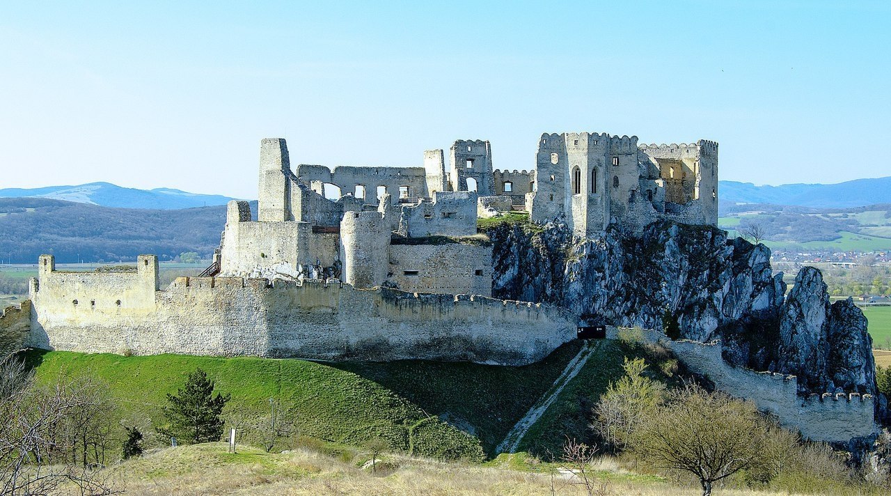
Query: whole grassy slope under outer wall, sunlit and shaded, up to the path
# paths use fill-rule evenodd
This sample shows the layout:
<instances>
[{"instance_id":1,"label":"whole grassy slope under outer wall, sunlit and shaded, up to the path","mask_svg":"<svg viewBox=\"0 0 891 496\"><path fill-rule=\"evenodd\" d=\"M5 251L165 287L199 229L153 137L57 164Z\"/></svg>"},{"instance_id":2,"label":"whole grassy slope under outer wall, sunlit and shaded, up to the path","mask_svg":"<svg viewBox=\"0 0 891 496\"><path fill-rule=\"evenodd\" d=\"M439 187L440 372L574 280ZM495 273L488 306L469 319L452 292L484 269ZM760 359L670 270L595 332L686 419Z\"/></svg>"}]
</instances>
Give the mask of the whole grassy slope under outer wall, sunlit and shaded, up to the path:
<instances>
[{"instance_id":1,"label":"whole grassy slope under outer wall, sunlit and shaded, up to the path","mask_svg":"<svg viewBox=\"0 0 891 496\"><path fill-rule=\"evenodd\" d=\"M462 362L318 363L187 355L124 357L30 351L39 380L89 374L109 384L121 417L161 419L167 393L203 368L230 406L264 415L269 399L296 417L300 434L347 445L385 437L394 449L441 459L480 459L560 376L581 343L541 362L499 367ZM618 359L621 363L621 359Z\"/></svg>"}]
</instances>

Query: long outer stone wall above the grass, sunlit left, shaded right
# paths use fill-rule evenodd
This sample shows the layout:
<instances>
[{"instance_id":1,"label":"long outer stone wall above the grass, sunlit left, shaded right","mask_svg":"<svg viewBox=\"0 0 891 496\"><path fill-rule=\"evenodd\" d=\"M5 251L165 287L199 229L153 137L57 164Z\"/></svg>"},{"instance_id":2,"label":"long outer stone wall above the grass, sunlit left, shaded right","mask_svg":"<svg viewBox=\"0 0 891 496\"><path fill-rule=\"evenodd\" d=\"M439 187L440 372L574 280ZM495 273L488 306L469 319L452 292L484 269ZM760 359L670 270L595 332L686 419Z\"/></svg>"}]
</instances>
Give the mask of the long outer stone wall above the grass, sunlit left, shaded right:
<instances>
[{"instance_id":1,"label":"long outer stone wall above the grass, sunlit left, shaded right","mask_svg":"<svg viewBox=\"0 0 891 496\"><path fill-rule=\"evenodd\" d=\"M94 276L82 276L82 291L114 296ZM151 305L100 305L97 296L89 308L73 307L52 279L31 294L28 340L49 350L525 365L576 335L566 310L482 296L180 277Z\"/></svg>"}]
</instances>

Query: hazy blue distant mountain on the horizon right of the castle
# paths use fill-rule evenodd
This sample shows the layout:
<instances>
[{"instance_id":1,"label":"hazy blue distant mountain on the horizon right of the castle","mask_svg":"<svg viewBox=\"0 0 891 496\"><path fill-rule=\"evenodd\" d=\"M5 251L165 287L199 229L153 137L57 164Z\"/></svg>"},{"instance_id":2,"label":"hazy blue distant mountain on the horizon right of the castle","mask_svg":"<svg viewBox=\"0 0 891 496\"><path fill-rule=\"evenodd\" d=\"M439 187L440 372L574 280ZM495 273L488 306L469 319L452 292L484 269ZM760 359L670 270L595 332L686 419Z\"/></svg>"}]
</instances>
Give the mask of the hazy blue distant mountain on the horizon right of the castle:
<instances>
[{"instance_id":1,"label":"hazy blue distant mountain on the horizon right of the castle","mask_svg":"<svg viewBox=\"0 0 891 496\"><path fill-rule=\"evenodd\" d=\"M834 185L755 186L718 181L720 203L772 203L816 209L846 209L891 203L891 177L854 179ZM719 203L719 204L720 204Z\"/></svg>"}]
</instances>

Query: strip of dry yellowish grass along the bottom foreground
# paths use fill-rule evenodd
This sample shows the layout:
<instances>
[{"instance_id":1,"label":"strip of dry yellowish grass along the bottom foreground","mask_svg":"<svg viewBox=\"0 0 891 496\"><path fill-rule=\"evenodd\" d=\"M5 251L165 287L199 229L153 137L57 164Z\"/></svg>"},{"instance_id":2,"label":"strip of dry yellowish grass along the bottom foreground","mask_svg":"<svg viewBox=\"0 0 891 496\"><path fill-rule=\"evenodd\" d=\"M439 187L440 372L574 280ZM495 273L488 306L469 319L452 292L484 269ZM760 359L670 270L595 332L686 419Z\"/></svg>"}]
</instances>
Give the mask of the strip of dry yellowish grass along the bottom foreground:
<instances>
[{"instance_id":1,"label":"strip of dry yellowish grass along the bottom foreground","mask_svg":"<svg viewBox=\"0 0 891 496\"><path fill-rule=\"evenodd\" d=\"M251 494L313 496L347 494L405 495L552 495L585 494L584 488L547 473L498 467L469 466L388 455L372 475L366 459L343 461L315 451L281 454L240 448L226 452L224 443L183 446L155 451L108 469L110 483L127 494ZM604 477L611 495L698 495L697 488L629 480L613 459L599 459L593 467ZM553 489L553 491L552 491ZM72 492L73 493L73 492ZM715 495L764 495L773 492L715 491ZM788 493L784 493L788 494Z\"/></svg>"}]
</instances>

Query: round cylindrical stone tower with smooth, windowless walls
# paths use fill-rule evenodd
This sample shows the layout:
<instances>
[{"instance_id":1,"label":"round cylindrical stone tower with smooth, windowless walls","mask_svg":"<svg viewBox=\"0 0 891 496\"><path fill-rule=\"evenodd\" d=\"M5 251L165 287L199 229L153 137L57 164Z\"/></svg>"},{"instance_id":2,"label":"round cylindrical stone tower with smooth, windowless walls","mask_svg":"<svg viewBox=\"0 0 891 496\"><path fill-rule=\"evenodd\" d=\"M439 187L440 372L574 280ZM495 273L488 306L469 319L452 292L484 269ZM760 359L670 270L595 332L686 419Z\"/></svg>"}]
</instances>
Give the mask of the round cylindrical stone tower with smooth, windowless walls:
<instances>
[{"instance_id":1,"label":"round cylindrical stone tower with smooth, windowless walls","mask_svg":"<svg viewBox=\"0 0 891 496\"><path fill-rule=\"evenodd\" d=\"M387 280L389 219L376 211L348 211L340 220L340 260L343 281L360 288L382 285Z\"/></svg>"}]
</instances>

